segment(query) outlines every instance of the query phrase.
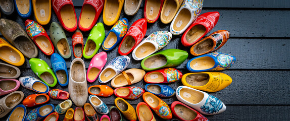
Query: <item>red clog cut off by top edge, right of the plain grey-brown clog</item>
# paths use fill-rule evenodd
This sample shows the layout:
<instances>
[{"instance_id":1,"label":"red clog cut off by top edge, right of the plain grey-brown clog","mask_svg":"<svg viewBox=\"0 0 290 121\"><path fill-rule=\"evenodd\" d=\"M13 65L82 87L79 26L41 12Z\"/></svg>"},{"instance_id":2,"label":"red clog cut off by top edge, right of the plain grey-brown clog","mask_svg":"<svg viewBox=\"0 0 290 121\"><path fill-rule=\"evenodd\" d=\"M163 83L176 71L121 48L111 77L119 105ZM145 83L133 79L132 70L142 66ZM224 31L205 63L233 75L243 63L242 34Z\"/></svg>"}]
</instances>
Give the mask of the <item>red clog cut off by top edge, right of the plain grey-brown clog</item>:
<instances>
[{"instance_id":1,"label":"red clog cut off by top edge, right of the plain grey-brown clog","mask_svg":"<svg viewBox=\"0 0 290 121\"><path fill-rule=\"evenodd\" d=\"M146 0L144 5L144 18L148 23L154 23L158 20L164 0Z\"/></svg>"}]
</instances>

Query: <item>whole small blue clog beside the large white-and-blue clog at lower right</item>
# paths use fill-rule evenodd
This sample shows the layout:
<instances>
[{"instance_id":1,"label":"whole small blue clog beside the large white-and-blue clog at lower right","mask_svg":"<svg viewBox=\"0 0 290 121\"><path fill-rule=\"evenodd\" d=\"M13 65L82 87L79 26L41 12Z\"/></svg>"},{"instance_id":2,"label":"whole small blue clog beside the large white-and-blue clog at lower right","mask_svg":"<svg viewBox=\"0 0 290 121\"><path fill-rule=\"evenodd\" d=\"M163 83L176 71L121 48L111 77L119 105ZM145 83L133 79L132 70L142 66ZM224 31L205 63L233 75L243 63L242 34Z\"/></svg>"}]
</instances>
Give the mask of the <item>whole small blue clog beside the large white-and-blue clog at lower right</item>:
<instances>
[{"instance_id":1,"label":"whole small blue clog beside the large white-and-blue clog at lower right","mask_svg":"<svg viewBox=\"0 0 290 121\"><path fill-rule=\"evenodd\" d=\"M171 97L175 94L171 87L161 84L146 84L145 90L160 97Z\"/></svg>"}]
</instances>

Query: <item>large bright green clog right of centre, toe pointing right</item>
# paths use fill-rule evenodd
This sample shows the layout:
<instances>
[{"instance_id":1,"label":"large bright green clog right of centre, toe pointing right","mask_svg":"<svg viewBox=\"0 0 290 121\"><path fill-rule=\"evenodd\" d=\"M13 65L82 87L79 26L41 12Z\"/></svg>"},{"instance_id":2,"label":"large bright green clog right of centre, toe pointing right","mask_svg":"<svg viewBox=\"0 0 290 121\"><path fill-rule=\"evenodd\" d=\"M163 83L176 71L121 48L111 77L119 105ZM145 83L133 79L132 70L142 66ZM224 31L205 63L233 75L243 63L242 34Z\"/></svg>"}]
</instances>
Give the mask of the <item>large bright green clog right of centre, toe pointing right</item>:
<instances>
[{"instance_id":1,"label":"large bright green clog right of centre, toe pointing right","mask_svg":"<svg viewBox=\"0 0 290 121\"><path fill-rule=\"evenodd\" d=\"M187 57L188 53L186 51L166 49L144 58L141 62L141 67L145 71L175 67L183 63Z\"/></svg>"}]
</instances>

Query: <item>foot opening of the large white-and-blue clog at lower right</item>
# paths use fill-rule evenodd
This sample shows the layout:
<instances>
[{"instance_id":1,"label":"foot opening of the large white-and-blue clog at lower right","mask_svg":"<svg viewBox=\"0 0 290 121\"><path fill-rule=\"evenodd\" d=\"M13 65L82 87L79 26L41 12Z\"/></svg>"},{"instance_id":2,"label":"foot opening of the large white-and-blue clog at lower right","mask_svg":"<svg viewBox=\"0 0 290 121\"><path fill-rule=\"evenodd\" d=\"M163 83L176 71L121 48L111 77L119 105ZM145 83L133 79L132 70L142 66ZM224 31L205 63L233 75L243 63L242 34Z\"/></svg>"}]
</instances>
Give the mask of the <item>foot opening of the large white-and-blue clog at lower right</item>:
<instances>
[{"instance_id":1,"label":"foot opening of the large white-and-blue clog at lower right","mask_svg":"<svg viewBox=\"0 0 290 121\"><path fill-rule=\"evenodd\" d=\"M182 88L180 90L180 96L182 99L186 100L189 103L197 104L203 100L204 93L196 90Z\"/></svg>"}]
</instances>

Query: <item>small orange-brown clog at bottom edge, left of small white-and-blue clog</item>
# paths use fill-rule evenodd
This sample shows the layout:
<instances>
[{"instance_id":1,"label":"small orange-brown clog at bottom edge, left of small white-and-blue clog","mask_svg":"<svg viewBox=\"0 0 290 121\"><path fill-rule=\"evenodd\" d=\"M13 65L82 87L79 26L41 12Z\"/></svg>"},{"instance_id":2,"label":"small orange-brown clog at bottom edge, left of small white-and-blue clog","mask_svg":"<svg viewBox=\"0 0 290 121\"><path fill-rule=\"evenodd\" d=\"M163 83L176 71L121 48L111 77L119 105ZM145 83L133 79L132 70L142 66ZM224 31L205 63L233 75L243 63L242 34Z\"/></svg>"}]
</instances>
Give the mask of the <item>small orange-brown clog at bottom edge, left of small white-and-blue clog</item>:
<instances>
[{"instance_id":1,"label":"small orange-brown clog at bottom edge, left of small white-and-blue clog","mask_svg":"<svg viewBox=\"0 0 290 121\"><path fill-rule=\"evenodd\" d=\"M83 106L85 117L88 121L98 121L99 117L94 111L93 107L89 103L85 103Z\"/></svg>"}]
</instances>

